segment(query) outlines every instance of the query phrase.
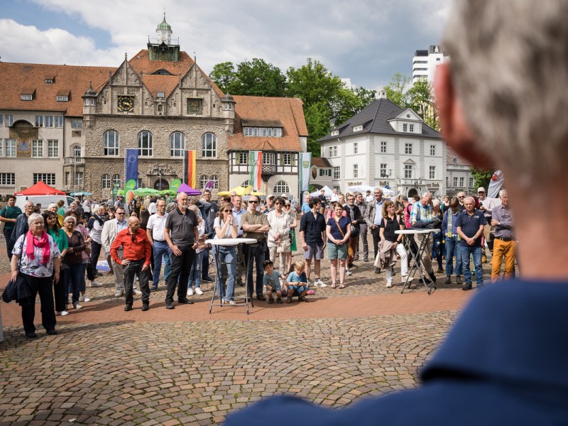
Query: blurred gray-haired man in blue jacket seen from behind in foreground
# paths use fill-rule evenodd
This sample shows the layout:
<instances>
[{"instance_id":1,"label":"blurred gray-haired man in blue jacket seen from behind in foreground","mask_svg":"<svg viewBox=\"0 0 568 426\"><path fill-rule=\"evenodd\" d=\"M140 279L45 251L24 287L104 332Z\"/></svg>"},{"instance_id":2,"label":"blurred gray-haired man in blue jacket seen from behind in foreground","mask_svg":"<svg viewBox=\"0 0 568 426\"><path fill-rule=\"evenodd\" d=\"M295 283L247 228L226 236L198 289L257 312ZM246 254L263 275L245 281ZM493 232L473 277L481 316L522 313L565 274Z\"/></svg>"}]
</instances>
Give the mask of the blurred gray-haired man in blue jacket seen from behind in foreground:
<instances>
[{"instance_id":1,"label":"blurred gray-haired man in blue jacket seen from behind in foreground","mask_svg":"<svg viewBox=\"0 0 568 426\"><path fill-rule=\"evenodd\" d=\"M518 200L523 280L469 301L417 388L334 410L272 398L229 414L226 426L566 423L568 200L558 195L568 161L567 16L565 0L454 0L443 39L451 60L437 67L448 146L476 168L502 170ZM528 195L546 217L526 207Z\"/></svg>"}]
</instances>

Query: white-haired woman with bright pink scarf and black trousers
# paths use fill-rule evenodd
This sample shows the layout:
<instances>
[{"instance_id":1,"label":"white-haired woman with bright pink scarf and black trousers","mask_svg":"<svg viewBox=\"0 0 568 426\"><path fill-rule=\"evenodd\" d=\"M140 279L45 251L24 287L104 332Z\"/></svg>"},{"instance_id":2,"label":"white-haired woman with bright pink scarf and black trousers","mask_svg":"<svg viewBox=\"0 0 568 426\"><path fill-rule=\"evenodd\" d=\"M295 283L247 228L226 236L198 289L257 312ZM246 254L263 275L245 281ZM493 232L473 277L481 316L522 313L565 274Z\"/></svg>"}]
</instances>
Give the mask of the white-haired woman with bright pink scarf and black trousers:
<instances>
[{"instance_id":1,"label":"white-haired woman with bright pink scarf and black trousers","mask_svg":"<svg viewBox=\"0 0 568 426\"><path fill-rule=\"evenodd\" d=\"M40 294L41 324L48 334L55 331L55 307L53 305L53 282L59 281L60 251L53 238L43 229L43 217L32 213L28 217L30 230L18 238L12 250L11 280L21 275L18 302L22 307L23 329L26 337L35 334L35 296ZM20 261L21 258L21 261Z\"/></svg>"}]
</instances>

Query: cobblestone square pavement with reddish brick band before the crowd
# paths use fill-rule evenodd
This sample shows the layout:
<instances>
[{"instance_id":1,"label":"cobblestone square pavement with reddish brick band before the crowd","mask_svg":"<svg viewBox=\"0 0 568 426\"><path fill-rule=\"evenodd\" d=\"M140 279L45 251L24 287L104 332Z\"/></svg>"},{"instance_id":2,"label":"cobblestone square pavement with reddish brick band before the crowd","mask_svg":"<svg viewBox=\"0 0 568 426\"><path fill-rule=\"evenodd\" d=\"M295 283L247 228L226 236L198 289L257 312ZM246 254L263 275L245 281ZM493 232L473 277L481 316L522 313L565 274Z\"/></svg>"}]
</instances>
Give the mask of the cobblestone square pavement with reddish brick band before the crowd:
<instances>
[{"instance_id":1,"label":"cobblestone square pavement with reddish brick band before the crowd","mask_svg":"<svg viewBox=\"0 0 568 426\"><path fill-rule=\"evenodd\" d=\"M343 290L317 288L309 303L257 301L248 317L244 307L209 315L211 284L195 305L169 311L160 283L151 310L136 296L124 312L106 275L87 289L92 302L58 317L57 336L38 325L38 338L26 339L18 305L0 303L0 425L212 425L268 395L335 408L412 388L473 292L439 284L432 295L417 285L400 294L396 280L387 289L384 273L359 265ZM328 261L322 279L330 283Z\"/></svg>"}]
</instances>

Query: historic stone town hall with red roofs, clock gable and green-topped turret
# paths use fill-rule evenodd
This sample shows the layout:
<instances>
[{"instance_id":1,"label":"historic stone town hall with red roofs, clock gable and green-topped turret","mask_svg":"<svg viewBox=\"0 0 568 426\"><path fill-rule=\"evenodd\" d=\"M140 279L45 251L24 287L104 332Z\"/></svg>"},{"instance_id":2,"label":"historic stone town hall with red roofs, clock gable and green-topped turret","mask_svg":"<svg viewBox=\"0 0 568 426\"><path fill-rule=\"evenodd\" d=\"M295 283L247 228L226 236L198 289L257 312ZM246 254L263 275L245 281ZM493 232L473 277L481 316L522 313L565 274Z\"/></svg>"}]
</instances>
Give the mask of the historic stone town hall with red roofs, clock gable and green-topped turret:
<instances>
[{"instance_id":1,"label":"historic stone town hall with red roofs, clock gable and green-topped turret","mask_svg":"<svg viewBox=\"0 0 568 426\"><path fill-rule=\"evenodd\" d=\"M165 17L156 33L116 68L0 63L0 194L44 180L109 197L114 183L124 187L127 148L138 150L139 187L183 180L184 151L195 150L196 186L226 190L249 175L234 162L258 149L267 155L261 190L297 193L301 100L225 95Z\"/></svg>"}]
</instances>

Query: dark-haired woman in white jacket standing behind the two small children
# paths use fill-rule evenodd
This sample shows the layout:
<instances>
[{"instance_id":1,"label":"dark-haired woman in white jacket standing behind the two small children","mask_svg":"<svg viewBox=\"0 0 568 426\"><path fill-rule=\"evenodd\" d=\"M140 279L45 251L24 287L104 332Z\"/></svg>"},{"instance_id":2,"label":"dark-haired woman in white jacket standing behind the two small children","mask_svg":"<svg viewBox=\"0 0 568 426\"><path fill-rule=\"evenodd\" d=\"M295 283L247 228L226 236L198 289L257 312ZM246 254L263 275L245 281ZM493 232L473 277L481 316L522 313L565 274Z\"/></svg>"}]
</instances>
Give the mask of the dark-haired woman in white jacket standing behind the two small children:
<instances>
[{"instance_id":1,"label":"dark-haired woman in white jacket standing behind the two small children","mask_svg":"<svg viewBox=\"0 0 568 426\"><path fill-rule=\"evenodd\" d=\"M290 269L285 269L285 266L288 265L288 258L292 258L292 251L290 251L290 219L283 207L283 197L276 198L273 211L268 213L266 217L268 224L271 226L271 229L268 231L268 251L270 251L272 262L275 261L275 257L278 254L280 271L288 272Z\"/></svg>"}]
</instances>

